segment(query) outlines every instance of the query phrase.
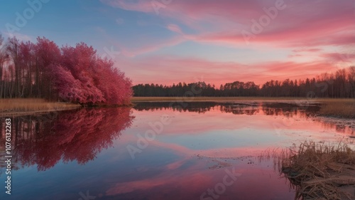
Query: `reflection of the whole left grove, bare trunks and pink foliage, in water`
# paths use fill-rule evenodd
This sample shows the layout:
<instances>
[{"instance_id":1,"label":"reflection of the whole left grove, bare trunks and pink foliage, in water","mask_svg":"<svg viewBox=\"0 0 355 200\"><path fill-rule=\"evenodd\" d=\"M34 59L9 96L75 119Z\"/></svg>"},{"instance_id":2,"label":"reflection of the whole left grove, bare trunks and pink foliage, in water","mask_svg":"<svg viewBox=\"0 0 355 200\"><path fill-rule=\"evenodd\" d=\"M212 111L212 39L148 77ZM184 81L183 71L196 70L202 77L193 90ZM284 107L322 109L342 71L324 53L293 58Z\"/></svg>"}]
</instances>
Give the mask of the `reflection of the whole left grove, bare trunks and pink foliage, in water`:
<instances>
[{"instance_id":1,"label":"reflection of the whole left grove, bare trunks and pink foliage, in water","mask_svg":"<svg viewBox=\"0 0 355 200\"><path fill-rule=\"evenodd\" d=\"M39 171L55 166L60 159L85 164L102 149L111 147L121 131L131 126L130 110L129 107L87 108L58 115L12 117L13 159L21 167L36 164ZM5 120L0 121L4 138ZM5 149L3 143L1 152Z\"/></svg>"}]
</instances>

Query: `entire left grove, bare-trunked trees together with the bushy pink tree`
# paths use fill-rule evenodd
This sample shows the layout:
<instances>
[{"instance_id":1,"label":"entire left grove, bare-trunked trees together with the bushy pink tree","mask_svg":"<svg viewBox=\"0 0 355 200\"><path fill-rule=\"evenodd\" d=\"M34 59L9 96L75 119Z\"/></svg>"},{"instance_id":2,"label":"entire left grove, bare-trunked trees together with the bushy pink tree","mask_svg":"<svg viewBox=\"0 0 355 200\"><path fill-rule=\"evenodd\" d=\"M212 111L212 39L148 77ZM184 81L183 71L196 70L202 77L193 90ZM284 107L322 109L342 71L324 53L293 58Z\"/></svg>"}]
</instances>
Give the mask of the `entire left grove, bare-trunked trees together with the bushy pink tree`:
<instances>
[{"instance_id":1,"label":"entire left grove, bare-trunked trees together with the bushy pink tree","mask_svg":"<svg viewBox=\"0 0 355 200\"><path fill-rule=\"evenodd\" d=\"M86 43L58 47L47 38L0 35L0 98L45 98L80 104L126 104L131 80Z\"/></svg>"}]
</instances>

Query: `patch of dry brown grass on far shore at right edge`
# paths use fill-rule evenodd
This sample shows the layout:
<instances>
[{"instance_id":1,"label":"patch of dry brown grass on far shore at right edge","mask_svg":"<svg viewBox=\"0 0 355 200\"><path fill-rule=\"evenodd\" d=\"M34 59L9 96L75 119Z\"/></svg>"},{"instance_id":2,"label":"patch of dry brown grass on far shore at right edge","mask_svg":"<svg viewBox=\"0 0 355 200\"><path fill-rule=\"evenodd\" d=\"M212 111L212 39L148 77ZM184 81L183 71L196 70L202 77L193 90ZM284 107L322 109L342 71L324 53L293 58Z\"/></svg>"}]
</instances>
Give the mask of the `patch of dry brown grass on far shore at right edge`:
<instances>
[{"instance_id":1,"label":"patch of dry brown grass on far shore at right edge","mask_svg":"<svg viewBox=\"0 0 355 200\"><path fill-rule=\"evenodd\" d=\"M324 102L320 114L334 117L355 118L355 100L333 100Z\"/></svg>"}]
</instances>

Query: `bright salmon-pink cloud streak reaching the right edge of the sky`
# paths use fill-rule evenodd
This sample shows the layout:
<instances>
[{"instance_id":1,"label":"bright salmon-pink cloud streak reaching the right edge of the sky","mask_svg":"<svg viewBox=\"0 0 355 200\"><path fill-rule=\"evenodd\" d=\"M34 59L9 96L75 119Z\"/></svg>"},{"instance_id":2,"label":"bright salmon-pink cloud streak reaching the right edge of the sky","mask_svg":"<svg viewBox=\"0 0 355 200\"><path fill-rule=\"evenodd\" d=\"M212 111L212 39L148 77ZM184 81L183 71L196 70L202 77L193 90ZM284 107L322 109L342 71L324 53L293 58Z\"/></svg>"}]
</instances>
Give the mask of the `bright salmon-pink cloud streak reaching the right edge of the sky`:
<instances>
[{"instance_id":1,"label":"bright salmon-pink cloud streak reaching the right edge of the sky","mask_svg":"<svg viewBox=\"0 0 355 200\"><path fill-rule=\"evenodd\" d=\"M201 34L200 36L195 36L195 41L234 43L239 46L249 43L266 44L269 46L278 46L280 48L342 46L355 43L355 31L346 31L343 33L341 30L337 30L337 28L339 27L328 26L326 24L316 29L310 29L307 26L303 26L297 29L284 28L283 30L263 31L260 35L246 34L245 37L241 31L233 30Z\"/></svg>"}]
</instances>

